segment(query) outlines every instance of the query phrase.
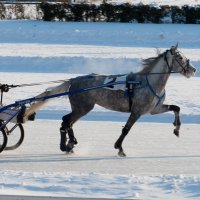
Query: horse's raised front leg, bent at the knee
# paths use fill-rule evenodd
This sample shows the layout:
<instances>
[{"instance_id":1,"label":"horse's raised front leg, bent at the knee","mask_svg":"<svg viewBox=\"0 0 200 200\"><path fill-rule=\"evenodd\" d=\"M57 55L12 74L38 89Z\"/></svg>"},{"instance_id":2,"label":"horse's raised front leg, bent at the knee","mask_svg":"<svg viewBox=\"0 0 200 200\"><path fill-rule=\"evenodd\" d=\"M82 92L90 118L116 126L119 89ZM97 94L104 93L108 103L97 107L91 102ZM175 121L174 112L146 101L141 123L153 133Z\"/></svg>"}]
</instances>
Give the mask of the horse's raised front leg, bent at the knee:
<instances>
[{"instance_id":1,"label":"horse's raised front leg, bent at the knee","mask_svg":"<svg viewBox=\"0 0 200 200\"><path fill-rule=\"evenodd\" d=\"M180 126L181 126L181 121L180 121L180 107L176 106L176 105L162 105L159 106L158 108L154 109L151 114L155 115L155 114L160 114L160 113L164 113L164 112L169 112L169 111L173 111L174 115L175 115L175 119L174 119L174 134L179 137L179 130L180 130Z\"/></svg>"}]
</instances>

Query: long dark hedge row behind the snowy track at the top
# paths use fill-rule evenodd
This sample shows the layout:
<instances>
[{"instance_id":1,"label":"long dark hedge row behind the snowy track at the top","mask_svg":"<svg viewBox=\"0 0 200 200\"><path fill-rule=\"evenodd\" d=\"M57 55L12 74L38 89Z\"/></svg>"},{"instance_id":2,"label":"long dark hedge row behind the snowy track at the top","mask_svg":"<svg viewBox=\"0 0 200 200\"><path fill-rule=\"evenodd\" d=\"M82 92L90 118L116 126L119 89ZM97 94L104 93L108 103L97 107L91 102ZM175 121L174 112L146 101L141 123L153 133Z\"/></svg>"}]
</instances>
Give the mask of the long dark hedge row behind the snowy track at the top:
<instances>
[{"instance_id":1,"label":"long dark hedge row behind the snowy track at the top","mask_svg":"<svg viewBox=\"0 0 200 200\"><path fill-rule=\"evenodd\" d=\"M18 5L19 6L19 5ZM36 14L45 21L129 22L200 24L200 5L152 6L143 4L68 4L44 2L36 5ZM4 5L0 5L0 13ZM22 8L16 9L23 16ZM0 14L1 19L5 14Z\"/></svg>"}]
</instances>

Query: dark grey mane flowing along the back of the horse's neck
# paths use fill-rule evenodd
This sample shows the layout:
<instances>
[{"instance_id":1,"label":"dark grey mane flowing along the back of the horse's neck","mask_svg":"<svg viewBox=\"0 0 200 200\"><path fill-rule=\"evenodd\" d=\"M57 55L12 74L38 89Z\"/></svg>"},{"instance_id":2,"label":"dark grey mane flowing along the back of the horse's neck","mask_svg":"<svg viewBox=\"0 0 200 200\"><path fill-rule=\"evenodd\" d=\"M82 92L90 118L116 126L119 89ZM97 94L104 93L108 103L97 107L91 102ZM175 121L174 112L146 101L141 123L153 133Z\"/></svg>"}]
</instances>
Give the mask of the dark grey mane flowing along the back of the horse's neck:
<instances>
[{"instance_id":1,"label":"dark grey mane flowing along the back of the horse's neck","mask_svg":"<svg viewBox=\"0 0 200 200\"><path fill-rule=\"evenodd\" d=\"M145 73L149 73L152 71L152 69L154 68L154 66L156 65L156 63L159 61L159 59L161 57L163 57L165 55L166 51L161 53L159 50L157 50L157 56L156 57L151 57L151 58L147 58L147 59L143 59L142 60L142 67L143 69L139 72L141 74L145 74Z\"/></svg>"}]
</instances>

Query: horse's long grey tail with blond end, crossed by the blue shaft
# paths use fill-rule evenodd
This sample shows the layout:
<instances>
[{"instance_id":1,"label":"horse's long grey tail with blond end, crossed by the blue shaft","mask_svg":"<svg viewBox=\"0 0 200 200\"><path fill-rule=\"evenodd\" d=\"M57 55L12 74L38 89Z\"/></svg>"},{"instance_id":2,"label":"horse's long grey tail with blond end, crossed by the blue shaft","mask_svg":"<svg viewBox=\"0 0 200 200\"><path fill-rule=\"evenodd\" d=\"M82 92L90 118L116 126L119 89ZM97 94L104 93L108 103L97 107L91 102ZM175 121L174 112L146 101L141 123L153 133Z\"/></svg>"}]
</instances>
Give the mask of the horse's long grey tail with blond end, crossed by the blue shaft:
<instances>
[{"instance_id":1,"label":"horse's long grey tail with blond end, crossed by the blue shaft","mask_svg":"<svg viewBox=\"0 0 200 200\"><path fill-rule=\"evenodd\" d=\"M62 84L60 84L60 85L58 85L56 87L48 88L45 92L37 95L36 98L46 97L46 96L49 96L49 95L54 95L54 94L59 94L59 93L67 92L67 91L69 91L70 85L71 85L70 81L65 81L64 83L62 83ZM48 101L49 101L49 99L33 103L26 110L26 112L24 114L24 121L28 120L29 116L31 116L32 114L35 113L35 111L37 111L41 107L43 107L46 103L48 103Z\"/></svg>"}]
</instances>

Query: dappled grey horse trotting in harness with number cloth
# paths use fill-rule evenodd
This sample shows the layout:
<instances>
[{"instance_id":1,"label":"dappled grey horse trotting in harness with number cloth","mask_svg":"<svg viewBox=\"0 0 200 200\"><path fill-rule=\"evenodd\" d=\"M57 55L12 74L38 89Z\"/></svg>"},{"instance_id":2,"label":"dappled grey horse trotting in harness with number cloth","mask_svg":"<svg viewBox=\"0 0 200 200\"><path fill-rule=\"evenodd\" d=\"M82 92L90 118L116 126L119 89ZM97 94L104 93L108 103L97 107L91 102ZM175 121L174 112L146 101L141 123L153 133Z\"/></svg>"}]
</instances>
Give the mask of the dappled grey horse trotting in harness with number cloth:
<instances>
[{"instance_id":1,"label":"dappled grey horse trotting in harness with number cloth","mask_svg":"<svg viewBox=\"0 0 200 200\"><path fill-rule=\"evenodd\" d=\"M73 152L74 145L77 144L72 128L73 124L90 112L95 104L113 111L130 113L120 137L114 144L114 147L119 150L119 156L126 156L122 148L123 140L141 115L147 113L154 115L173 111L175 114L174 134L179 136L181 125L179 118L180 108L177 105L163 104L165 85L170 74L180 73L189 78L194 75L196 69L178 51L177 46L160 53L157 57L144 59L142 62L143 69L138 73L111 76L91 74L72 78L60 86L41 94L40 96L45 96L63 91L77 91L82 88L125 80L125 83L121 85L113 84L108 87L69 95L72 111L63 117L61 124L61 151ZM68 142L67 134L69 137Z\"/></svg>"}]
</instances>

